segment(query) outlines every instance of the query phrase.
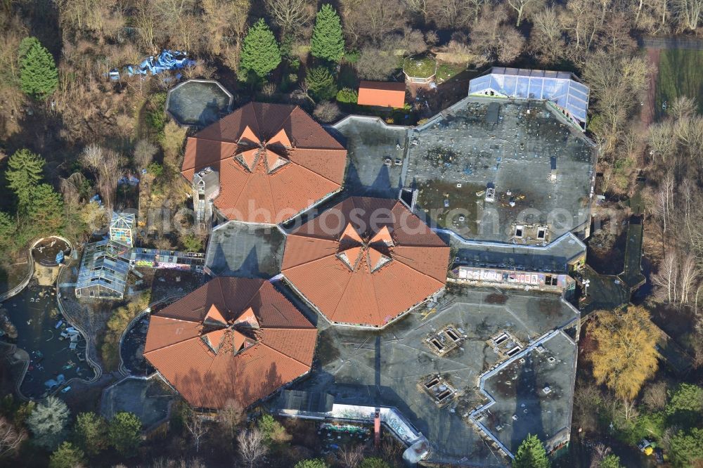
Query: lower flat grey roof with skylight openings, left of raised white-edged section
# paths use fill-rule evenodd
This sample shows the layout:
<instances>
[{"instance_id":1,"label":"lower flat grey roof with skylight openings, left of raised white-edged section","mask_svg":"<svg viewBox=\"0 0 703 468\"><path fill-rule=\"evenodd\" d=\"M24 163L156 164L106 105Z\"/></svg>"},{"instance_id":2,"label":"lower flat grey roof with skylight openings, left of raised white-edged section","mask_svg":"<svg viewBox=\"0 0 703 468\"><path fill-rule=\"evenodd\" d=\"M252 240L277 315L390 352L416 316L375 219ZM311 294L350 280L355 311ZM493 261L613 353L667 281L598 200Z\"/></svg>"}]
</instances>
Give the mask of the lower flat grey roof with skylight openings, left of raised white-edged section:
<instances>
[{"instance_id":1,"label":"lower flat grey roof with skylight openings, left of raised white-edged section","mask_svg":"<svg viewBox=\"0 0 703 468\"><path fill-rule=\"evenodd\" d=\"M335 403L397 408L429 439L430 462L503 466L500 451L467 417L477 405L489 403L479 391L479 375L503 360L498 354L503 351L496 352L488 340L507 331L524 346L576 318L574 308L557 294L448 285L436 308L423 306L378 332L318 320L318 365L292 388L332 394ZM467 338L440 356L425 338L446 326L463 330ZM574 368L574 353L559 357L562 372ZM441 408L421 386L437 374L458 391Z\"/></svg>"}]
</instances>

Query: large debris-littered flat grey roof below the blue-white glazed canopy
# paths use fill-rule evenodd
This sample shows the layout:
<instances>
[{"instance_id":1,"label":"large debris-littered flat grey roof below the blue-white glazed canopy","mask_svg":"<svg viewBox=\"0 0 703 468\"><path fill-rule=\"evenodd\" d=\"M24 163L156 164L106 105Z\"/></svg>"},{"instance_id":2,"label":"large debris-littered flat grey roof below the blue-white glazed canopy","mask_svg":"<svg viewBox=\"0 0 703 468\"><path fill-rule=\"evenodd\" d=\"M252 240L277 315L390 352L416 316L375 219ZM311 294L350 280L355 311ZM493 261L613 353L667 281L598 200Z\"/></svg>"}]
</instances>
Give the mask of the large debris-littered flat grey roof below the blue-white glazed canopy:
<instances>
[{"instance_id":1,"label":"large debris-littered flat grey roof below the blue-white glazed canopy","mask_svg":"<svg viewBox=\"0 0 703 468\"><path fill-rule=\"evenodd\" d=\"M516 221L548 224L551 239L586 225L593 144L545 103L498 101L498 124L490 124L495 102L465 98L411 132L404 185L419 189L418 209L482 240L510 241ZM487 186L495 187L494 202L484 201Z\"/></svg>"}]
</instances>

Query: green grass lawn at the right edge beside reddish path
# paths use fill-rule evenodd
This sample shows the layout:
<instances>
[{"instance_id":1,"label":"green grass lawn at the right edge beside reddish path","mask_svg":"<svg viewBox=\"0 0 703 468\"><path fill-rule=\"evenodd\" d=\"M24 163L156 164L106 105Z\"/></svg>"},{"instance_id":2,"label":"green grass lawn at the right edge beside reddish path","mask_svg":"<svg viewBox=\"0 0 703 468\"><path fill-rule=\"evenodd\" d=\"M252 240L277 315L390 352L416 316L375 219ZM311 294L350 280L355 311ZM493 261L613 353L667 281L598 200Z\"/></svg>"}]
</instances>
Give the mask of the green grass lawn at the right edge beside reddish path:
<instances>
[{"instance_id":1,"label":"green grass lawn at the right edge beside reddish path","mask_svg":"<svg viewBox=\"0 0 703 468\"><path fill-rule=\"evenodd\" d=\"M695 98L703 114L703 51L663 50L659 56L659 74L655 114L664 113L662 104L671 105L678 96Z\"/></svg>"}]
</instances>

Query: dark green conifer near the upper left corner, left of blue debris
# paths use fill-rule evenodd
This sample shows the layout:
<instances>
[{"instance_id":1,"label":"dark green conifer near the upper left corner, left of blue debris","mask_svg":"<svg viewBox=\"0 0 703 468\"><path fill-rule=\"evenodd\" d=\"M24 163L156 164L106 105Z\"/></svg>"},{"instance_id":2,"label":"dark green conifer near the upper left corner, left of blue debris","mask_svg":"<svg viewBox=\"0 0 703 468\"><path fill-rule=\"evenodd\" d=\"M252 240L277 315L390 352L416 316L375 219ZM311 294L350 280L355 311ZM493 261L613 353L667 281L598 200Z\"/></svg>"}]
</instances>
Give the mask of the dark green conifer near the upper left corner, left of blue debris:
<instances>
[{"instance_id":1,"label":"dark green conifer near the upper left corner, left of blue debris","mask_svg":"<svg viewBox=\"0 0 703 468\"><path fill-rule=\"evenodd\" d=\"M44 100L58 88L58 72L51 53L36 37L25 37L19 48L20 89L36 100Z\"/></svg>"}]
</instances>

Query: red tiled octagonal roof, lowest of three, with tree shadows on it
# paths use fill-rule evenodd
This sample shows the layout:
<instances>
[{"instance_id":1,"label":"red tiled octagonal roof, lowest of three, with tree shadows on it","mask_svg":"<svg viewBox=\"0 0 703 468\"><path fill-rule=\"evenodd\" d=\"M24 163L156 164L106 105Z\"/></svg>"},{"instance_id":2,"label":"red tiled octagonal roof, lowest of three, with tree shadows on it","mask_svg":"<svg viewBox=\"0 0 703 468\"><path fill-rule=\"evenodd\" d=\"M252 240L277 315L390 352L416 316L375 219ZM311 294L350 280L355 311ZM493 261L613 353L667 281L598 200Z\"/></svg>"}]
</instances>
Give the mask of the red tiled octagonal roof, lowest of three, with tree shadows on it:
<instances>
[{"instance_id":1,"label":"red tiled octagonal roof, lowest of three, with tree shadows on it","mask_svg":"<svg viewBox=\"0 0 703 468\"><path fill-rule=\"evenodd\" d=\"M144 357L191 405L246 408L310 370L316 337L270 282L215 278L151 316Z\"/></svg>"}]
</instances>

